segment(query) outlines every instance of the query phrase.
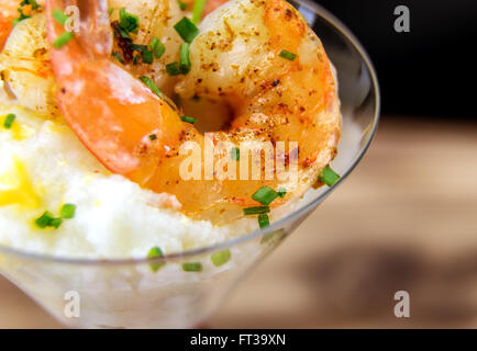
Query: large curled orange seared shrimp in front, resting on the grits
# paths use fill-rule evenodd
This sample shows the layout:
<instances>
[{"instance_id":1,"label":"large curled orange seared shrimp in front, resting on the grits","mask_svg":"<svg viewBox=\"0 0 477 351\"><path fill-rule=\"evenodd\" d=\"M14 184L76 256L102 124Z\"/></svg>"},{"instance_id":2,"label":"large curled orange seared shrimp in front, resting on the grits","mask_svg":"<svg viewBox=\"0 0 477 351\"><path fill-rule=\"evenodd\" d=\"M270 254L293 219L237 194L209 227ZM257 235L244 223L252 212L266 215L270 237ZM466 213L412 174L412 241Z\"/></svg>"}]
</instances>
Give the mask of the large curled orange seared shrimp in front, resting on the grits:
<instances>
[{"instance_id":1,"label":"large curled orange seared shrimp in front, resting on the grits","mask_svg":"<svg viewBox=\"0 0 477 351\"><path fill-rule=\"evenodd\" d=\"M53 43L64 29L51 12L64 9L64 1L46 3ZM196 141L204 155L204 136L111 60L107 2L77 3L86 10L81 33L51 49L57 100L73 131L107 168L155 192L174 194L185 213L212 220L224 210L236 217L244 206L257 205L252 195L264 185L284 185L276 178L182 180L186 156L180 146ZM282 50L297 57L284 58ZM213 143L296 141L298 184L285 184L286 200L314 183L334 157L340 112L330 63L301 15L284 0L231 1L200 25L190 59L191 71L176 87L181 98L224 100L234 110L231 127L215 133ZM203 158L201 162L203 174Z\"/></svg>"}]
</instances>

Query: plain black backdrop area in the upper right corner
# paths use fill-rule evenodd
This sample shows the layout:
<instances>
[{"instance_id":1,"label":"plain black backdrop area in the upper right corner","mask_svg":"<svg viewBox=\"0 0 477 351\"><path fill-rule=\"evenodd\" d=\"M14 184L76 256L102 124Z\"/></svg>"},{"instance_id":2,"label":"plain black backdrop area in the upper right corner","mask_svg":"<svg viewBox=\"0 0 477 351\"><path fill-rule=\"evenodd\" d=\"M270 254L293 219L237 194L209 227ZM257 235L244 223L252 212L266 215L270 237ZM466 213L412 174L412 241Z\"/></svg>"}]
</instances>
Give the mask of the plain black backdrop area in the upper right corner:
<instances>
[{"instance_id":1,"label":"plain black backdrop area in the upper right corner","mask_svg":"<svg viewBox=\"0 0 477 351\"><path fill-rule=\"evenodd\" d=\"M382 115L476 120L477 1L320 0L358 37L381 84ZM395 9L410 10L409 33L393 29ZM470 89L469 89L470 88Z\"/></svg>"}]
</instances>

